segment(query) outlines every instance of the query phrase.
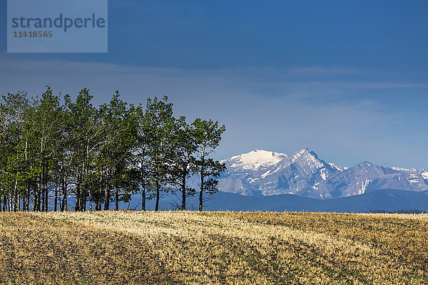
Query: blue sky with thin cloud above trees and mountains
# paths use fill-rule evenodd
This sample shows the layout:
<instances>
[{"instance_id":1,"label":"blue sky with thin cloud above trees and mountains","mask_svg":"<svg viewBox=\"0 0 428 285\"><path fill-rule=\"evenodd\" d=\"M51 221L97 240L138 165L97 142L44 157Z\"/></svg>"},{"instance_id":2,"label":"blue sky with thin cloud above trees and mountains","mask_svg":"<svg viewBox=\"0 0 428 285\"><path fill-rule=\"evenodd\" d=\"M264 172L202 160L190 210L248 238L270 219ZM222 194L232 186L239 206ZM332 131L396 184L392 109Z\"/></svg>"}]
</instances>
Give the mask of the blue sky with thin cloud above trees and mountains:
<instances>
[{"instance_id":1,"label":"blue sky with thin cloud above trees and mountains","mask_svg":"<svg viewBox=\"0 0 428 285\"><path fill-rule=\"evenodd\" d=\"M0 1L6 19L6 1ZM108 53L6 53L0 94L168 95L218 120L215 158L305 147L428 168L428 1L108 1Z\"/></svg>"}]
</instances>

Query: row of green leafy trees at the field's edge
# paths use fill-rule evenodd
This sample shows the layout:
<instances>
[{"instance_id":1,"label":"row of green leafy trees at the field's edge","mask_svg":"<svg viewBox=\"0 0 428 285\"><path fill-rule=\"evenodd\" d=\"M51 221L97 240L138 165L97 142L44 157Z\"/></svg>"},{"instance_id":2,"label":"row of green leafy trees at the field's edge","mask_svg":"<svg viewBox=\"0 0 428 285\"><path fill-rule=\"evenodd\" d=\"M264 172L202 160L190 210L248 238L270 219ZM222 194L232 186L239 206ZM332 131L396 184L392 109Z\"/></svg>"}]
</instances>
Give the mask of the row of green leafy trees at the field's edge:
<instances>
[{"instance_id":1,"label":"row of green leafy trees at the field's edge","mask_svg":"<svg viewBox=\"0 0 428 285\"><path fill-rule=\"evenodd\" d=\"M210 154L218 147L225 127L213 120L173 115L168 98L148 98L146 106L128 104L118 91L109 103L94 106L83 89L54 95L51 88L36 98L26 93L2 96L0 101L0 210L85 211L119 208L131 195L147 199L165 193L186 198L198 177L199 210L206 195L217 191L215 180L225 165ZM209 197L209 196L208 196Z\"/></svg>"}]
</instances>

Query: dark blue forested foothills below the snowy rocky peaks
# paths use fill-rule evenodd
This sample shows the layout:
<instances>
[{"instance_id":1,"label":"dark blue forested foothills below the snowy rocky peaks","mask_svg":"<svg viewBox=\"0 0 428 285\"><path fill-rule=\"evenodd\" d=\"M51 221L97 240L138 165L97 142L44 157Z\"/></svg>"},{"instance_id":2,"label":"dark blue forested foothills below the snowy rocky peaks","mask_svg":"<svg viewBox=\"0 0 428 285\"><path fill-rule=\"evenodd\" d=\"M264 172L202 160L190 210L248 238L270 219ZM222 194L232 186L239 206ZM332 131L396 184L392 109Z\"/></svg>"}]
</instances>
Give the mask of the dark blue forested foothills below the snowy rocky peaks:
<instances>
[{"instance_id":1,"label":"dark blue forested foothills below the snowy rocky peaks","mask_svg":"<svg viewBox=\"0 0 428 285\"><path fill-rule=\"evenodd\" d=\"M159 202L159 209L177 209L180 194L167 195ZM187 209L198 209L198 195L189 197ZM74 204L73 199L69 204ZM133 195L131 202L120 202L121 209L141 209L141 195ZM153 210L155 201L148 200L146 209ZM70 207L72 209L72 207ZM217 192L204 203L206 211L273 211L273 212L428 212L428 191L377 190L362 195L337 199L313 199L292 194L244 196Z\"/></svg>"}]
</instances>

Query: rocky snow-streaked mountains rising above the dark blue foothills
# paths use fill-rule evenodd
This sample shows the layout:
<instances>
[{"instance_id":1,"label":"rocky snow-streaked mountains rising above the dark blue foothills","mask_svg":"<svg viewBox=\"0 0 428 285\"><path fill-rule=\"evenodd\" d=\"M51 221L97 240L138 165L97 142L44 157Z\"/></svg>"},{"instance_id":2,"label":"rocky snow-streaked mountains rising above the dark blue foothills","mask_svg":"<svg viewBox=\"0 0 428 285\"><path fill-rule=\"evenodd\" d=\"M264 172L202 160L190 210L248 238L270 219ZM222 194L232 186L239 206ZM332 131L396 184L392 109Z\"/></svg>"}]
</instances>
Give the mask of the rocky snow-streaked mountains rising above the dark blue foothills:
<instances>
[{"instance_id":1,"label":"rocky snow-streaked mountains rising above the dark blue foothills","mask_svg":"<svg viewBox=\"0 0 428 285\"><path fill-rule=\"evenodd\" d=\"M310 149L292 155L253 150L223 160L222 192L241 195L295 194L317 199L361 195L373 190L428 190L428 171L361 162L342 167L320 160Z\"/></svg>"}]
</instances>

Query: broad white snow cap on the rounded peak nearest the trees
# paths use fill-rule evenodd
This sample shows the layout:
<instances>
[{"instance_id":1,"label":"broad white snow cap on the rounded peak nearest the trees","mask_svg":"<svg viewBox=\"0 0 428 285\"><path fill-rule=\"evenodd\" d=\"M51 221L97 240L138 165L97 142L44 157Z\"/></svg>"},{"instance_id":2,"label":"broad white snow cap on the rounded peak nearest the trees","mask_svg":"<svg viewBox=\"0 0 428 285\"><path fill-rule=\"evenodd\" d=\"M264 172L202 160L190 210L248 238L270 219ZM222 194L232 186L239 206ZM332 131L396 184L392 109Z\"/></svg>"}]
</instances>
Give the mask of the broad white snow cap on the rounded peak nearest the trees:
<instances>
[{"instance_id":1,"label":"broad white snow cap on the rounded peak nearest the trees","mask_svg":"<svg viewBox=\"0 0 428 285\"><path fill-rule=\"evenodd\" d=\"M253 150L242 155L235 155L222 162L230 163L230 167L240 167L248 170L258 170L260 167L269 167L283 160L287 155L267 150Z\"/></svg>"}]
</instances>

